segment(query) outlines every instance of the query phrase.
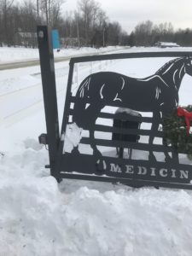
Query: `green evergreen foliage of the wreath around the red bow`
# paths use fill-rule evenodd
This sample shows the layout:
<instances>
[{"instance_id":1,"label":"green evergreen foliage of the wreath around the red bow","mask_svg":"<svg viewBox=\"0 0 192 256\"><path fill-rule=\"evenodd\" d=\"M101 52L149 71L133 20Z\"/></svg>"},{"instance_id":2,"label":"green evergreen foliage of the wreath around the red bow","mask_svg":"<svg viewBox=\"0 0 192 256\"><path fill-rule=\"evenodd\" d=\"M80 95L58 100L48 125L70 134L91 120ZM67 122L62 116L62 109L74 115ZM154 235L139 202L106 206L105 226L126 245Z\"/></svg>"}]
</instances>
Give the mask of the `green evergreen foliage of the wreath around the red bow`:
<instances>
[{"instance_id":1,"label":"green evergreen foliage of the wreath around the red bow","mask_svg":"<svg viewBox=\"0 0 192 256\"><path fill-rule=\"evenodd\" d=\"M192 112L192 105L182 108ZM177 108L163 120L163 132L168 145L171 144L177 153L187 154L192 160L192 134L187 131L185 118L177 115Z\"/></svg>"}]
</instances>

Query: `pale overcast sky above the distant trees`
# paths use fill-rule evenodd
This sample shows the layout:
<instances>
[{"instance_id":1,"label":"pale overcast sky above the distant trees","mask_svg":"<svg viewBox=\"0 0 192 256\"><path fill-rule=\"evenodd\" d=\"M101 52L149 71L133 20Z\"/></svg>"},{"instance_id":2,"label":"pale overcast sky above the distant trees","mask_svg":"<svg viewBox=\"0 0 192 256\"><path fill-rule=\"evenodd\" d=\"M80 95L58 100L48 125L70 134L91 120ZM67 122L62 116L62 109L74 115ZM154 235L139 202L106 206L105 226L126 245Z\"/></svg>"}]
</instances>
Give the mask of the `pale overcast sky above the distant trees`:
<instances>
[{"instance_id":1,"label":"pale overcast sky above the distant trees","mask_svg":"<svg viewBox=\"0 0 192 256\"><path fill-rule=\"evenodd\" d=\"M63 9L77 9L79 0L65 0ZM174 28L192 28L192 0L97 0L111 21L131 32L141 21L172 22Z\"/></svg>"}]
</instances>

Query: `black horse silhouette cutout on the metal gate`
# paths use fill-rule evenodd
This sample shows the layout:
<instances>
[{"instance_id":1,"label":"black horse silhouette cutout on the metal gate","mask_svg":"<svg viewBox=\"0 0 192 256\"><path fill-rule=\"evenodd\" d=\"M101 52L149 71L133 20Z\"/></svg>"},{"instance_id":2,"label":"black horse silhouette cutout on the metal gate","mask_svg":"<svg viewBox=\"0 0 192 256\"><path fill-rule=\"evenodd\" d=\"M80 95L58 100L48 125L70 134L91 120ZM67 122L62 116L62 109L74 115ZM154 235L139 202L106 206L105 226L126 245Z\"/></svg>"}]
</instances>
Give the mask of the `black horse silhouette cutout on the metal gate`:
<instances>
[{"instance_id":1,"label":"black horse silhouette cutout on the metal gate","mask_svg":"<svg viewBox=\"0 0 192 256\"><path fill-rule=\"evenodd\" d=\"M90 132L90 147L102 166L102 153L94 141L94 127L102 108L115 104L118 108L152 112L151 133L148 138L150 148L161 119L171 113L173 108L177 108L178 90L186 73L192 76L191 57L168 61L156 73L144 79L131 78L121 73L99 72L92 73L83 80L74 100L73 122ZM166 145L166 142L163 144ZM166 160L169 160L168 152L165 155ZM153 150L149 149L148 160L156 160Z\"/></svg>"}]
</instances>

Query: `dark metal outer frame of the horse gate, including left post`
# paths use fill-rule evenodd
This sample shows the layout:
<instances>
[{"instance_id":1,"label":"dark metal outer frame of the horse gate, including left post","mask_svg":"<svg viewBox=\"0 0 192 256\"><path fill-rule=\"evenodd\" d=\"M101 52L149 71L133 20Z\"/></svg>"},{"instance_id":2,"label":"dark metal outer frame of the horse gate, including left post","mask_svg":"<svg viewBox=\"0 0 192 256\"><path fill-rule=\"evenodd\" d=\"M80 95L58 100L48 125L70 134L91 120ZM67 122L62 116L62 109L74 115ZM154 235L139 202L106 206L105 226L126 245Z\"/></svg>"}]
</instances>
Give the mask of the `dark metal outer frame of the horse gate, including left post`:
<instances>
[{"instance_id":1,"label":"dark metal outer frame of the horse gate, including left post","mask_svg":"<svg viewBox=\"0 0 192 256\"><path fill-rule=\"evenodd\" d=\"M57 180L61 178L73 178L83 179L90 181L102 181L110 183L124 183L131 186L155 186L175 189L192 189L192 184L189 183L166 183L160 181L146 181L139 179L129 179L123 177L102 177L91 176L86 174L73 174L73 173L61 173L61 152L63 148L63 131L66 131L67 125L67 109L70 106L71 84L73 81L73 68L75 63L88 62L88 61L107 61L107 60L119 60L119 59L132 59L132 58L151 58L151 57L180 57L180 56L192 56L190 51L166 51L166 52L139 52L139 53L124 53L113 55L90 55L83 57L71 58L69 62L69 74L67 81L67 94L65 101L65 108L63 112L61 135L59 135L59 120L57 111L57 98L55 89L55 68L54 68L54 55L51 45L50 30L47 26L38 26L38 48L40 55L40 65L42 73L42 84L44 91L44 109L48 134L49 145L49 168L50 173ZM192 172L192 168L191 168Z\"/></svg>"}]
</instances>

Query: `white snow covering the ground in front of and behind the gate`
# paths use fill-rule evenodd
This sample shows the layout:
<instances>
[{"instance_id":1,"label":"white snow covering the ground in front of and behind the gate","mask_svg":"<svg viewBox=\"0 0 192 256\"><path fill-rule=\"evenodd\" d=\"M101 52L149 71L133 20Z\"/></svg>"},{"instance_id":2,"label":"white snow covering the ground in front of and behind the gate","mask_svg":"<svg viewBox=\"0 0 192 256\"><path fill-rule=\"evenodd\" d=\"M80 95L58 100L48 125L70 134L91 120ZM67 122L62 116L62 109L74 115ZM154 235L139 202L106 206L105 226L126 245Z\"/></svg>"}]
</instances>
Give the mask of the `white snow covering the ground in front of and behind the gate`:
<instances>
[{"instance_id":1,"label":"white snow covering the ground in front of and behind the gate","mask_svg":"<svg viewBox=\"0 0 192 256\"><path fill-rule=\"evenodd\" d=\"M125 51L147 50L161 49ZM1 63L37 57L37 49L0 48ZM82 66L73 86L77 88L90 69L142 78L166 60ZM67 61L55 64L60 125L67 73ZM191 104L191 95L192 78L186 75L180 104ZM50 176L44 168L48 151L38 144L38 135L46 132L42 97L39 67L0 71L0 256L191 256L190 190L67 179L58 184Z\"/></svg>"}]
</instances>

